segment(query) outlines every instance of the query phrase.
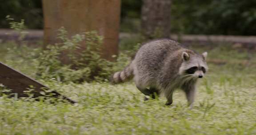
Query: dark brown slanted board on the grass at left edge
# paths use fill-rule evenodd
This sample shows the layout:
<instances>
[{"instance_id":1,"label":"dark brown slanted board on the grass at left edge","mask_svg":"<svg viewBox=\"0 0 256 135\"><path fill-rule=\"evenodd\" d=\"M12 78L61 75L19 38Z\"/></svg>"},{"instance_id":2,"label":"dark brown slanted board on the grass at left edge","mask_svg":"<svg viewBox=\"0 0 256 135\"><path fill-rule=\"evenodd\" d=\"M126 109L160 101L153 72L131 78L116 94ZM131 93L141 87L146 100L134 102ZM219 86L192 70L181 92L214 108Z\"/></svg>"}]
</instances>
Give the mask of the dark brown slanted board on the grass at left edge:
<instances>
[{"instance_id":1,"label":"dark brown slanted board on the grass at left edge","mask_svg":"<svg viewBox=\"0 0 256 135\"><path fill-rule=\"evenodd\" d=\"M11 93L17 93L18 98L20 97L28 97L24 91L27 91L29 87L33 86L35 89L32 94L34 97L44 96L40 94L40 91L48 90L49 88L44 86L43 84L37 82L36 80L29 78L28 76L20 73L8 67L7 65L0 62L0 83L2 83L8 89L11 89ZM48 94L52 94L54 97L60 97L61 99L68 100L70 103L76 103L75 101L61 95L56 91L51 91Z\"/></svg>"}]
</instances>

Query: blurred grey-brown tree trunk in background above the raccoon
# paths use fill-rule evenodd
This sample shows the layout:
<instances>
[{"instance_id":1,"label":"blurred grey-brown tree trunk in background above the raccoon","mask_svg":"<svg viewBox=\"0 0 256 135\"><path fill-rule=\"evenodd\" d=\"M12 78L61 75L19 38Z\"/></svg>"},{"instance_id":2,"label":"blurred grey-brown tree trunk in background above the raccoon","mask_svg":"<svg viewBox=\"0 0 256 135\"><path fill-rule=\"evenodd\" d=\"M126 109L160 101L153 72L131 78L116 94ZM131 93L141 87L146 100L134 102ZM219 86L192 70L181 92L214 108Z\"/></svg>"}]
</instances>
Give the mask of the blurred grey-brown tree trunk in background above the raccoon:
<instances>
[{"instance_id":1,"label":"blurred grey-brown tree trunk in background above the raccoon","mask_svg":"<svg viewBox=\"0 0 256 135\"><path fill-rule=\"evenodd\" d=\"M143 0L142 35L146 39L169 38L172 0Z\"/></svg>"}]
</instances>

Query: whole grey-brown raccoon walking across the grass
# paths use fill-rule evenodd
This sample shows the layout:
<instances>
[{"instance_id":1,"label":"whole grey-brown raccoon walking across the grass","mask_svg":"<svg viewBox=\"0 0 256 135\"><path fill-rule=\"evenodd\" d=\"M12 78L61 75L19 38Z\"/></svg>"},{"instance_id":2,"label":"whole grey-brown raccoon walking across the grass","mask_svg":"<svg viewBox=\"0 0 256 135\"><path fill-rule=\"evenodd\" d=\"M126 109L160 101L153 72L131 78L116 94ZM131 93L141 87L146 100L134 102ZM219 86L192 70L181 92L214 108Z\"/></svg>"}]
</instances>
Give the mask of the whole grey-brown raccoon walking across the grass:
<instances>
[{"instance_id":1,"label":"whole grey-brown raccoon walking across the grass","mask_svg":"<svg viewBox=\"0 0 256 135\"><path fill-rule=\"evenodd\" d=\"M112 83L123 83L134 78L136 87L144 94L164 95L166 105L172 104L176 89L185 92L188 106L192 106L198 78L208 71L207 52L198 54L182 47L174 40L154 40L143 44L132 62L112 75ZM145 100L147 100L145 96Z\"/></svg>"}]
</instances>

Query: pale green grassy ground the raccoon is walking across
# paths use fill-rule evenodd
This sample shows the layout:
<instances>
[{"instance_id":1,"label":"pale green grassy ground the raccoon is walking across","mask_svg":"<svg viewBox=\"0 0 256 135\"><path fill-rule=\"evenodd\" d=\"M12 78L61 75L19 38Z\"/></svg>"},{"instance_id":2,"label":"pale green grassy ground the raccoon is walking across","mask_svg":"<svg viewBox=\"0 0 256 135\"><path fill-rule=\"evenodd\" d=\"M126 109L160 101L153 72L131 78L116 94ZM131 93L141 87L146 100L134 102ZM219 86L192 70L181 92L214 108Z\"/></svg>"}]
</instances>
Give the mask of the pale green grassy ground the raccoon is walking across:
<instances>
[{"instance_id":1,"label":"pale green grassy ground the raccoon is walking across","mask_svg":"<svg viewBox=\"0 0 256 135\"><path fill-rule=\"evenodd\" d=\"M0 44L0 61L33 76L36 61ZM26 50L27 49L27 50ZM0 135L254 135L256 134L256 57L227 47L208 51L206 78L201 79L194 107L176 91L174 103L143 101L133 83L45 83L78 104L0 98ZM36 52L36 50L32 50ZM7 52L7 53L6 53ZM36 54L30 54L35 56ZM28 56L30 56L28 55ZM247 61L244 63L244 61Z\"/></svg>"}]
</instances>

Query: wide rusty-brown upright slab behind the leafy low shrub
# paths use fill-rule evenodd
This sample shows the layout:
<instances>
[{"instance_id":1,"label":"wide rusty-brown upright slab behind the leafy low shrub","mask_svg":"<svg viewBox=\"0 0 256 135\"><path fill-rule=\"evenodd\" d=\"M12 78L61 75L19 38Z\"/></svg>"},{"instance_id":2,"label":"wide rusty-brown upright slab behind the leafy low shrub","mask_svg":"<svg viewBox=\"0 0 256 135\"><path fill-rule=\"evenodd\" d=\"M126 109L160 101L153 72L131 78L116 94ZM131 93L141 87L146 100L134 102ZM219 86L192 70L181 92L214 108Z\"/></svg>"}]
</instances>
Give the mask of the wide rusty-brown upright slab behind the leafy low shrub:
<instances>
[{"instance_id":1,"label":"wide rusty-brown upright slab behind the leafy low shrub","mask_svg":"<svg viewBox=\"0 0 256 135\"><path fill-rule=\"evenodd\" d=\"M68 36L96 30L104 36L102 57L115 60L112 56L118 53L120 0L43 0L43 7L45 46L58 42L56 34L61 27Z\"/></svg>"}]
</instances>

